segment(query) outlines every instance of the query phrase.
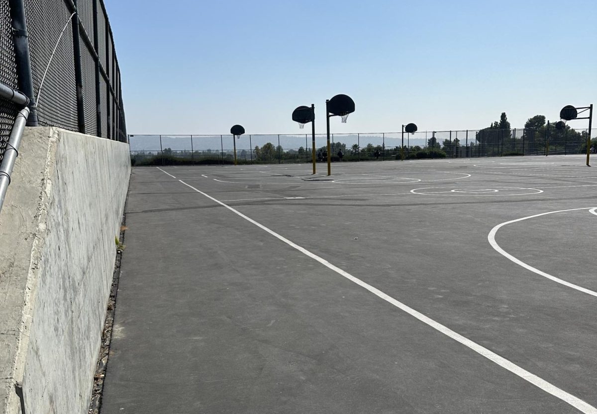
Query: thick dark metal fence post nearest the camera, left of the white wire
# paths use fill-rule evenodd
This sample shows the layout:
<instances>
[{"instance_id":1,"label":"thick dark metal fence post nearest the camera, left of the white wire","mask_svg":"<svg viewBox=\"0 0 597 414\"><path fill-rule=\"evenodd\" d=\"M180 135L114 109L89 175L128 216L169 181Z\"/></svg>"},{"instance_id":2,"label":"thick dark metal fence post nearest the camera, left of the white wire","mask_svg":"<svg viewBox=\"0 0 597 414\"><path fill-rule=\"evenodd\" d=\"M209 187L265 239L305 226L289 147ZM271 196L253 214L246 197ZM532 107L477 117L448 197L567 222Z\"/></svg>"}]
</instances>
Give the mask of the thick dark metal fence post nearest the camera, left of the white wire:
<instances>
[{"instance_id":1,"label":"thick dark metal fence post nearest the camera, left of the white wire","mask_svg":"<svg viewBox=\"0 0 597 414\"><path fill-rule=\"evenodd\" d=\"M35 92L33 92L33 75L29 54L29 33L23 0L9 0L10 17L13 23L14 60L17 67L17 83L19 89L29 98L29 117L27 126L38 126Z\"/></svg>"}]
</instances>

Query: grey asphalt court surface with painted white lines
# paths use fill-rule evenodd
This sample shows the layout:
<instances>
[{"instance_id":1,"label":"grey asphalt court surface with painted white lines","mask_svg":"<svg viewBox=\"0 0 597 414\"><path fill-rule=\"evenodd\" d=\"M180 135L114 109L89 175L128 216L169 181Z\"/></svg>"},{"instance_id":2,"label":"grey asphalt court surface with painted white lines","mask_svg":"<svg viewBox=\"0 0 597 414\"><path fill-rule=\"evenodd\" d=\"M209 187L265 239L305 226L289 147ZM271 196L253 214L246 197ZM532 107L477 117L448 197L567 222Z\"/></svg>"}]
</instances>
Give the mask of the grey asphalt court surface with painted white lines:
<instances>
[{"instance_id":1,"label":"grey asphalt court surface with painted white lines","mask_svg":"<svg viewBox=\"0 0 597 414\"><path fill-rule=\"evenodd\" d=\"M584 157L311 168L133 169L102 413L597 413Z\"/></svg>"}]
</instances>

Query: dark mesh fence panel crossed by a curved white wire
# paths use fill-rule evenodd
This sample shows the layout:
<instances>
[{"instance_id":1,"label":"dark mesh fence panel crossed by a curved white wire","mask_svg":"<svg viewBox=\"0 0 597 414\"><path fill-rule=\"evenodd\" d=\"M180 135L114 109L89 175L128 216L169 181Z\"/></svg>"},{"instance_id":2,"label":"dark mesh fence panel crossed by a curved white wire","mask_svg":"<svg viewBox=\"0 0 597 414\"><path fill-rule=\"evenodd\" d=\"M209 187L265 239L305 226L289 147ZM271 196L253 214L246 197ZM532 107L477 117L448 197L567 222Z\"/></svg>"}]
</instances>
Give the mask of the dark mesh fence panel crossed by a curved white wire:
<instances>
[{"instance_id":1,"label":"dark mesh fence panel crossed by a curved white wire","mask_svg":"<svg viewBox=\"0 0 597 414\"><path fill-rule=\"evenodd\" d=\"M25 10L27 30L29 30L33 89L37 95L54 46L70 13L66 4L57 0L27 0ZM78 130L71 27L67 27L60 39L37 105L40 124Z\"/></svg>"}]
</instances>

